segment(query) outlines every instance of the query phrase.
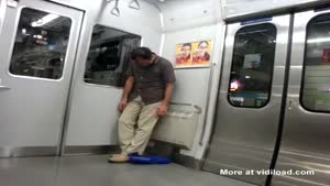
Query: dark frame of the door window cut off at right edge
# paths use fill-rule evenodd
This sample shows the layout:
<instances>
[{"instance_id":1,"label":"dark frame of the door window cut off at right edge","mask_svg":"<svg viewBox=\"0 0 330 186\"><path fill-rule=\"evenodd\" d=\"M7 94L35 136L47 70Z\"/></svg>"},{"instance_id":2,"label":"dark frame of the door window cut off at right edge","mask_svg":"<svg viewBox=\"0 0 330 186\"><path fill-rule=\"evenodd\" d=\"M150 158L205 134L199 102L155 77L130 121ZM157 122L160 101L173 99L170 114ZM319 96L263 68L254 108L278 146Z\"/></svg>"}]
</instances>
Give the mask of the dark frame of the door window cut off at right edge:
<instances>
[{"instance_id":1,"label":"dark frame of the door window cut off at right edge","mask_svg":"<svg viewBox=\"0 0 330 186\"><path fill-rule=\"evenodd\" d=\"M316 14L315 17L310 18L306 24L306 28L305 28L305 44L304 44L304 56L302 56L302 68L301 68L301 80L300 80L300 90L299 90L299 103L300 106L309 111L309 112L315 112L315 113L330 113L330 110L329 111L324 111L324 110L315 110L315 109L310 109L308 107L306 107L304 105L304 101L302 101L302 98L304 98L304 88L305 88L305 75L306 75L306 55L307 55L307 37L308 37L308 26L310 25L311 21L314 21L315 19L319 18L319 17L323 17L323 15L329 15L330 17L330 12L328 13L321 13L321 14ZM330 21L330 20L329 20ZM330 42L329 42L330 43Z\"/></svg>"}]
</instances>

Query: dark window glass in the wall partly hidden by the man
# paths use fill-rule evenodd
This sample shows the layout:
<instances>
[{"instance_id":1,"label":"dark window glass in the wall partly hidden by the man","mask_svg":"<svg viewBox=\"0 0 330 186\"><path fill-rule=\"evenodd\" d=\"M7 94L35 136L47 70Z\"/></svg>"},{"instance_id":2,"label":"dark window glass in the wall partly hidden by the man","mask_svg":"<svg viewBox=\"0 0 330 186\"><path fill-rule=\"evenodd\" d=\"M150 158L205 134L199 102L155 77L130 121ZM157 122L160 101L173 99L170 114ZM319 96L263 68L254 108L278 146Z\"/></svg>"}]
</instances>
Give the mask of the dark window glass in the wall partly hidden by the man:
<instances>
[{"instance_id":1,"label":"dark window glass in the wall partly hidden by the man","mask_svg":"<svg viewBox=\"0 0 330 186\"><path fill-rule=\"evenodd\" d=\"M95 25L89 46L85 81L88 84L122 87L129 53L139 47L141 36L123 31Z\"/></svg>"}]
</instances>

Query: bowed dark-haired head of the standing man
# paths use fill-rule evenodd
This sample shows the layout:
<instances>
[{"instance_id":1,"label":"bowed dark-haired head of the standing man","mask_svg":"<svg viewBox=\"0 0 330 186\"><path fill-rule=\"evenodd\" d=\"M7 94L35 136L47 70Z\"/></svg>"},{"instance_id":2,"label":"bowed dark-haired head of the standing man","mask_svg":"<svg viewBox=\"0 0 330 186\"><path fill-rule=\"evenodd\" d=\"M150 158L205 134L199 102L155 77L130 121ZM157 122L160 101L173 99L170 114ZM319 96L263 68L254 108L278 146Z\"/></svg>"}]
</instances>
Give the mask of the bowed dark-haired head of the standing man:
<instances>
[{"instance_id":1,"label":"bowed dark-haired head of the standing man","mask_svg":"<svg viewBox=\"0 0 330 186\"><path fill-rule=\"evenodd\" d=\"M134 48L131 58L140 66L148 66L153 59L153 52L147 47Z\"/></svg>"}]
</instances>

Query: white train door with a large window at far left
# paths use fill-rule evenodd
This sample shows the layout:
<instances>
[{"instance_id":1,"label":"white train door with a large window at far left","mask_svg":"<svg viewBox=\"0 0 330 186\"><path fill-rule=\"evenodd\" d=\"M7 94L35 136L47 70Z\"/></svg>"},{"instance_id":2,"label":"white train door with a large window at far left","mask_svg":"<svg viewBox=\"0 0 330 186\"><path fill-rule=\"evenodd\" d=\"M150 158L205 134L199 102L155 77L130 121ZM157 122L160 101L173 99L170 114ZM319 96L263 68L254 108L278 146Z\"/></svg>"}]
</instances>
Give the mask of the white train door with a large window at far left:
<instances>
[{"instance_id":1,"label":"white train door with a large window at far left","mask_svg":"<svg viewBox=\"0 0 330 186\"><path fill-rule=\"evenodd\" d=\"M47 1L7 1L0 35L0 156L56 154L82 15Z\"/></svg>"}]
</instances>

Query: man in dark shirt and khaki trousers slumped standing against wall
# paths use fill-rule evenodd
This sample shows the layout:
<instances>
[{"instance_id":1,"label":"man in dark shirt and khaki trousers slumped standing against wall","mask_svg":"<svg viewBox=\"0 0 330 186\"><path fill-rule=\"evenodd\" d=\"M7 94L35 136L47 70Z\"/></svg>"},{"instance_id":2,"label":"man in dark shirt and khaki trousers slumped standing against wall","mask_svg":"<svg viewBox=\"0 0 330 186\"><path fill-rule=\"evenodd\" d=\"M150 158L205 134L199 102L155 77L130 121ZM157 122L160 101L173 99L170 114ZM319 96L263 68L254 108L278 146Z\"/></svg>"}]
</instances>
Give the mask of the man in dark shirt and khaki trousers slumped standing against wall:
<instances>
[{"instance_id":1,"label":"man in dark shirt and khaki trousers slumped standing against wall","mask_svg":"<svg viewBox=\"0 0 330 186\"><path fill-rule=\"evenodd\" d=\"M172 98L175 75L167 59L139 47L131 53L119 110L119 141L121 154L109 157L109 162L123 163L130 154L142 155L160 117L167 113Z\"/></svg>"}]
</instances>

